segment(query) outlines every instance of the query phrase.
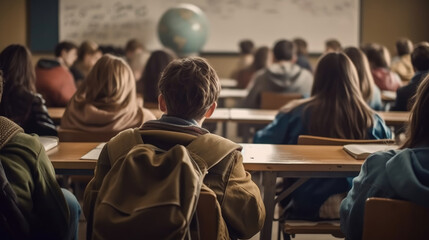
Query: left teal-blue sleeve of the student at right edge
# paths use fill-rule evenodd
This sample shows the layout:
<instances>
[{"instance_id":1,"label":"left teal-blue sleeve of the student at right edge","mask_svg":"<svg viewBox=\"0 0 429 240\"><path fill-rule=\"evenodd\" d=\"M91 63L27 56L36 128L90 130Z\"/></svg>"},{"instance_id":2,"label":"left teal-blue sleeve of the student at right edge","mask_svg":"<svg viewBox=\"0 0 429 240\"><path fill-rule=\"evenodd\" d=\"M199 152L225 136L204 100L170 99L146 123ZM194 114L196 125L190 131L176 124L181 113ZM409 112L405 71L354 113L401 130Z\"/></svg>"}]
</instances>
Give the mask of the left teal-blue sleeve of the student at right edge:
<instances>
[{"instance_id":1,"label":"left teal-blue sleeve of the student at right edge","mask_svg":"<svg viewBox=\"0 0 429 240\"><path fill-rule=\"evenodd\" d=\"M363 219L365 203L369 197L391 197L385 174L387 153L371 155L362 165L362 169L353 180L353 187L342 201L340 207L341 231L346 239L361 239L363 231Z\"/></svg>"}]
</instances>

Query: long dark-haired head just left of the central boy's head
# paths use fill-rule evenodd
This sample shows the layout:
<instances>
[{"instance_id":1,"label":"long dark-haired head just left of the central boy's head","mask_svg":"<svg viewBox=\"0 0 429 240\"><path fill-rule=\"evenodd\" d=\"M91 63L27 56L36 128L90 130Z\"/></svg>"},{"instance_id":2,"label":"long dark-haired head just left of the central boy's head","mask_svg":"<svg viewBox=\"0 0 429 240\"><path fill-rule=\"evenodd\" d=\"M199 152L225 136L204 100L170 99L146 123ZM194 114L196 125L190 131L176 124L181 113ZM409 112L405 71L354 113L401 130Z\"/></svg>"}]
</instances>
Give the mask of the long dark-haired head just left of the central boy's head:
<instances>
[{"instance_id":1,"label":"long dark-haired head just left of the central boy's head","mask_svg":"<svg viewBox=\"0 0 429 240\"><path fill-rule=\"evenodd\" d=\"M150 55L139 84L143 84L143 99L145 102L158 102L158 82L162 71L176 58L173 51L157 50Z\"/></svg>"}]
</instances>

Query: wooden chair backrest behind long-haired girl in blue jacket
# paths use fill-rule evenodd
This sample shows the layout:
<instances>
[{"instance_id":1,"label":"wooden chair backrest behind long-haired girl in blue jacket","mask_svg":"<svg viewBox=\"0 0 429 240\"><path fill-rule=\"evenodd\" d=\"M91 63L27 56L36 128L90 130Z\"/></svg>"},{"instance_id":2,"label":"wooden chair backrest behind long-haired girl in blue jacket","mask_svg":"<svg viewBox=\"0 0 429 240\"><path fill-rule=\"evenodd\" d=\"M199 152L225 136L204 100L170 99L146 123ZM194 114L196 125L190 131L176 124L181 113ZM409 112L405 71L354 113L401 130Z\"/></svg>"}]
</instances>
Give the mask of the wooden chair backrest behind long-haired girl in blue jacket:
<instances>
[{"instance_id":1,"label":"wooden chair backrest behind long-haired girl in blue jacket","mask_svg":"<svg viewBox=\"0 0 429 240\"><path fill-rule=\"evenodd\" d=\"M332 145L342 146L346 144L394 144L393 139L369 139L369 140L356 140L356 139L342 139L342 138L328 138L318 137L311 135L299 135L298 145Z\"/></svg>"}]
</instances>

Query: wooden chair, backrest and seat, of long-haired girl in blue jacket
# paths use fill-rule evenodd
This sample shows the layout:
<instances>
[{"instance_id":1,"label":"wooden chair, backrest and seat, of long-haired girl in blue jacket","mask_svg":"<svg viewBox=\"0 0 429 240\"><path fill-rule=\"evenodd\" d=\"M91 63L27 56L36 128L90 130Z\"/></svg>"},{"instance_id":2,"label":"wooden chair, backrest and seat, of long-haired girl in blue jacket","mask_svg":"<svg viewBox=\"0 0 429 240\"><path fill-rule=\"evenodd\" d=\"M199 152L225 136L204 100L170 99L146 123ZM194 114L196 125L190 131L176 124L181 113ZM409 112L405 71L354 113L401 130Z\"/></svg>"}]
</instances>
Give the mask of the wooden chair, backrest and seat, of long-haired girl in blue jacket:
<instances>
[{"instance_id":1,"label":"wooden chair, backrest and seat, of long-haired girl in blue jacket","mask_svg":"<svg viewBox=\"0 0 429 240\"><path fill-rule=\"evenodd\" d=\"M300 135L298 145L345 145L345 144L394 144L393 139L355 140L328 138L310 135ZM343 238L344 234L340 230L340 222L333 221L294 221L287 220L282 224L283 233L294 236L295 234L331 234L334 237Z\"/></svg>"}]
</instances>

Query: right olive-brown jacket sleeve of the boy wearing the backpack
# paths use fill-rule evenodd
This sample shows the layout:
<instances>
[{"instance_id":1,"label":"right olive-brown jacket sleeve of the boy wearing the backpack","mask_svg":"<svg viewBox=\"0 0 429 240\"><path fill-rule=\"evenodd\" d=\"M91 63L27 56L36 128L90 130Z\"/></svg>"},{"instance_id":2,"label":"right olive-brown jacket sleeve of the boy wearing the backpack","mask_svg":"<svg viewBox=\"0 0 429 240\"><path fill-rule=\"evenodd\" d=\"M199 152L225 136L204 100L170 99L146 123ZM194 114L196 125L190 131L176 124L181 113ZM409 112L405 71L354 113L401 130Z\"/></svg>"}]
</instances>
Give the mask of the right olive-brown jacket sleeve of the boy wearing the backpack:
<instances>
[{"instance_id":1,"label":"right olive-brown jacket sleeve of the boy wearing the backpack","mask_svg":"<svg viewBox=\"0 0 429 240\"><path fill-rule=\"evenodd\" d=\"M231 173L221 204L230 236L248 239L259 232L265 220L265 206L259 188L244 170L243 156L235 151Z\"/></svg>"}]
</instances>

